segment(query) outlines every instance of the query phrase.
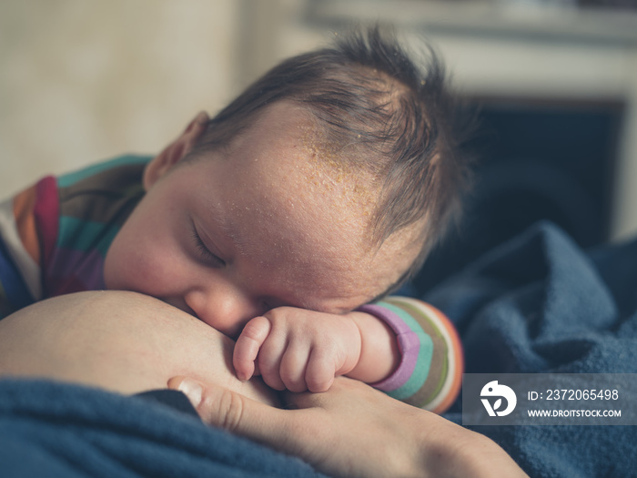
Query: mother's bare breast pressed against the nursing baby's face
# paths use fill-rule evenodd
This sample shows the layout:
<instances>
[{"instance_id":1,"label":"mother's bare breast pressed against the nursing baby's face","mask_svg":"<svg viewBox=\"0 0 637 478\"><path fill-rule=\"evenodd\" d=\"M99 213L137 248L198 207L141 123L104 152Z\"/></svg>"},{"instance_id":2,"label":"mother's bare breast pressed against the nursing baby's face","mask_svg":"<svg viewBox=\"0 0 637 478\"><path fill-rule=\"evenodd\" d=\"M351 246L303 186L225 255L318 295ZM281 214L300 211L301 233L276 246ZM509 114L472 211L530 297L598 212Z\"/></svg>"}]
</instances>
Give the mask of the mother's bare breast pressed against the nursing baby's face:
<instances>
[{"instance_id":1,"label":"mother's bare breast pressed against the nursing baby's face","mask_svg":"<svg viewBox=\"0 0 637 478\"><path fill-rule=\"evenodd\" d=\"M233 342L191 315L134 292L80 292L0 320L0 375L136 393L184 374L260 402L277 395L231 371Z\"/></svg>"}]
</instances>

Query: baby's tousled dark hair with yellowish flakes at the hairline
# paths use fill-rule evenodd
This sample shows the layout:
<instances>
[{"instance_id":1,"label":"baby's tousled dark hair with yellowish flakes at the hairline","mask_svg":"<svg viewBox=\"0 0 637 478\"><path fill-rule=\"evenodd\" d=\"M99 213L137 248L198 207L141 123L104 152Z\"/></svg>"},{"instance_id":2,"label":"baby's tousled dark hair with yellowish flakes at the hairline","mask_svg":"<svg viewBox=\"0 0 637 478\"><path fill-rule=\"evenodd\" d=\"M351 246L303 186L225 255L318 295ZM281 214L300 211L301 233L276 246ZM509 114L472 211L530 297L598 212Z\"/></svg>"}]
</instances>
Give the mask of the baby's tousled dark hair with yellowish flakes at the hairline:
<instances>
[{"instance_id":1,"label":"baby's tousled dark hair with yellowish flakes at the hairline","mask_svg":"<svg viewBox=\"0 0 637 478\"><path fill-rule=\"evenodd\" d=\"M334 46L291 57L248 86L209 120L194 153L226 147L275 102L307 108L330 145L348 148L343 160L380 178L370 223L378 244L424 224L419 257L398 287L448 229L469 171L460 110L438 56L426 50L421 65L379 26L336 36Z\"/></svg>"}]
</instances>

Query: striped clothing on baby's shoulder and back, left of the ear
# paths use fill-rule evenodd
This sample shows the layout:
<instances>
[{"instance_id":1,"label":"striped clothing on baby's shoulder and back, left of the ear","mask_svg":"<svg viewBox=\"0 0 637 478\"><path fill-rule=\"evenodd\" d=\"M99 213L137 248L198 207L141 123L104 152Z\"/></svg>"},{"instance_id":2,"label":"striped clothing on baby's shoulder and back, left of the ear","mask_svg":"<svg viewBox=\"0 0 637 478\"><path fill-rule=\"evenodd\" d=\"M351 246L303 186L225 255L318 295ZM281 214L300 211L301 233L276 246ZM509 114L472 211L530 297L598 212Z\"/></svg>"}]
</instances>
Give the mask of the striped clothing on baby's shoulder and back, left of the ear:
<instances>
[{"instance_id":1,"label":"striped clothing on baby's shoulder and back, left of the ear","mask_svg":"<svg viewBox=\"0 0 637 478\"><path fill-rule=\"evenodd\" d=\"M144 195L150 157L47 176L0 203L0 319L48 297L103 288L104 257Z\"/></svg>"}]
</instances>

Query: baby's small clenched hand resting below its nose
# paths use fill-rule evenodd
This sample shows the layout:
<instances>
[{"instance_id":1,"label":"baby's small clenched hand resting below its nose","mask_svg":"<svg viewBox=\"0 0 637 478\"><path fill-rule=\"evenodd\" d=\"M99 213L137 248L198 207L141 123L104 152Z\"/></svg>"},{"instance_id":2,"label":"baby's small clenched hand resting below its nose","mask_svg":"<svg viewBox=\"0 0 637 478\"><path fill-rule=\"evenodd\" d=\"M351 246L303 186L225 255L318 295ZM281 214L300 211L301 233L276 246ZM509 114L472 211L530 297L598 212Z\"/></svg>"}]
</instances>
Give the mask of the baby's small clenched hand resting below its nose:
<instances>
[{"instance_id":1,"label":"baby's small clenched hand resting below its nose","mask_svg":"<svg viewBox=\"0 0 637 478\"><path fill-rule=\"evenodd\" d=\"M260 373L276 390L326 392L357 365L360 350L359 327L348 316L279 307L246 324L233 365L240 380Z\"/></svg>"}]
</instances>

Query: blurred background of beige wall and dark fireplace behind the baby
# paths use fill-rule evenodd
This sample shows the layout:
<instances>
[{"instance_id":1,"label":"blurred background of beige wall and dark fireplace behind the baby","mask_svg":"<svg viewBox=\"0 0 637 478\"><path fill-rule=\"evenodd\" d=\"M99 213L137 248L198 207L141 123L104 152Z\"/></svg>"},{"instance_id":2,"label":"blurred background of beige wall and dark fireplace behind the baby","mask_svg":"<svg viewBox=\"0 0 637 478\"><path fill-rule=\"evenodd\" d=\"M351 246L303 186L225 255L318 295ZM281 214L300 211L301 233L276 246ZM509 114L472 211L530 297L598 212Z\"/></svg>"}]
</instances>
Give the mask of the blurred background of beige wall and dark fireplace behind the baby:
<instances>
[{"instance_id":1,"label":"blurred background of beige wall and dark fireplace behind the baby","mask_svg":"<svg viewBox=\"0 0 637 478\"><path fill-rule=\"evenodd\" d=\"M538 219L584 247L637 231L630 0L3 0L1 197L155 153L281 58L377 20L428 37L480 107L467 217L429 270L450 272Z\"/></svg>"}]
</instances>

